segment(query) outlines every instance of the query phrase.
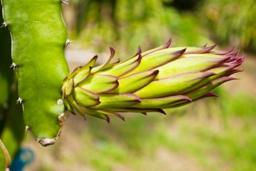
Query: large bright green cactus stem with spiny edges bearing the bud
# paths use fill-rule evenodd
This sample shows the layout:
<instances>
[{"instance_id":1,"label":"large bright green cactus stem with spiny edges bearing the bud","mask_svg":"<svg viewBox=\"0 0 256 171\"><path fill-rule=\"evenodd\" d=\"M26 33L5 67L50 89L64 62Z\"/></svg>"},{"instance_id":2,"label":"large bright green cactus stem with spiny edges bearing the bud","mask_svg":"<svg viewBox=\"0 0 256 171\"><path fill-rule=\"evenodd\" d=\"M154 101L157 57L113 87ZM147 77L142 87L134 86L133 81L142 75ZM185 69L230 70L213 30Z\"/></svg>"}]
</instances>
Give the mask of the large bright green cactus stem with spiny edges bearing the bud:
<instances>
[{"instance_id":1,"label":"large bright green cactus stem with spiny edges bearing the bud","mask_svg":"<svg viewBox=\"0 0 256 171\"><path fill-rule=\"evenodd\" d=\"M1 0L4 22L12 36L24 122L42 145L59 135L58 117L65 112L59 89L69 73L64 56L67 32L61 0Z\"/></svg>"}]
</instances>

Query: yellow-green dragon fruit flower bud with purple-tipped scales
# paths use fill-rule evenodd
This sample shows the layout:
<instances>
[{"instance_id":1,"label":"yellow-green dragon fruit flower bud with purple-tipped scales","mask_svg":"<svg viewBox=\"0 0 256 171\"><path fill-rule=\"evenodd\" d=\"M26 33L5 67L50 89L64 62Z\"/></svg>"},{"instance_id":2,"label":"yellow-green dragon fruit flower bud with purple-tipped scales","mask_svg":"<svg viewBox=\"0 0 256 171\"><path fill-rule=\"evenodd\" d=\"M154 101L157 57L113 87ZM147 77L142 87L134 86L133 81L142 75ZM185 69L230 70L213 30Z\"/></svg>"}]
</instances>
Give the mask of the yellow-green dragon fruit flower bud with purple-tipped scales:
<instances>
[{"instance_id":1,"label":"yellow-green dragon fruit flower bud with purple-tipped scales","mask_svg":"<svg viewBox=\"0 0 256 171\"><path fill-rule=\"evenodd\" d=\"M216 96L211 90L228 77L245 59L232 50L218 51L214 46L170 48L164 46L141 53L121 62L109 60L88 71L75 69L63 81L63 102L72 113L86 114L110 121L119 112L160 112ZM94 61L94 59L92 60ZM75 79L75 81L73 81ZM72 93L73 92L73 93Z\"/></svg>"}]
</instances>

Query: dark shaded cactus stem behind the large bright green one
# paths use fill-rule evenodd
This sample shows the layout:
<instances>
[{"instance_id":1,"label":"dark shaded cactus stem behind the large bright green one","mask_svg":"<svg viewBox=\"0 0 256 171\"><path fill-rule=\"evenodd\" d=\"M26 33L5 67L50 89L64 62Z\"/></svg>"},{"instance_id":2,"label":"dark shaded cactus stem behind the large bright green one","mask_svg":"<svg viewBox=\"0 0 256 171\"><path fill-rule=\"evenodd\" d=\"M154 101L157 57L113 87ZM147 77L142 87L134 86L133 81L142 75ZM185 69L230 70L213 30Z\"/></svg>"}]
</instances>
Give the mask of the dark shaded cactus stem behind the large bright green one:
<instances>
[{"instance_id":1,"label":"dark shaded cactus stem behind the large bright green one","mask_svg":"<svg viewBox=\"0 0 256 171\"><path fill-rule=\"evenodd\" d=\"M3 23L2 13L0 13L0 23ZM13 78L11 63L11 35L8 28L3 27L0 28L0 115L1 119L4 120L0 121L0 135L6 149L9 151L9 156L14 158L20 148L25 126L22 106L16 104L18 99L17 78ZM5 164L5 162L0 163Z\"/></svg>"}]
</instances>

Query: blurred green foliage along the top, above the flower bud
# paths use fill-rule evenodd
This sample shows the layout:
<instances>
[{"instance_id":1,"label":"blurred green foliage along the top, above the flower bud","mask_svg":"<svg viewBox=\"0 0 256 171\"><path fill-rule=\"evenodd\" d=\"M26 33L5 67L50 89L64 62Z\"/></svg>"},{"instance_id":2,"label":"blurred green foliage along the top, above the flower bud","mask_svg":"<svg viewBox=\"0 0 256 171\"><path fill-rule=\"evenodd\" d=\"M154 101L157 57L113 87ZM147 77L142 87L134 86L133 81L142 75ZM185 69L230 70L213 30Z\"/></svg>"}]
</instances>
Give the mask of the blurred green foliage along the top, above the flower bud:
<instances>
[{"instance_id":1,"label":"blurred green foliage along the top, above the flower bud","mask_svg":"<svg viewBox=\"0 0 256 171\"><path fill-rule=\"evenodd\" d=\"M211 43L256 51L255 0L71 0L73 38L96 50Z\"/></svg>"}]
</instances>

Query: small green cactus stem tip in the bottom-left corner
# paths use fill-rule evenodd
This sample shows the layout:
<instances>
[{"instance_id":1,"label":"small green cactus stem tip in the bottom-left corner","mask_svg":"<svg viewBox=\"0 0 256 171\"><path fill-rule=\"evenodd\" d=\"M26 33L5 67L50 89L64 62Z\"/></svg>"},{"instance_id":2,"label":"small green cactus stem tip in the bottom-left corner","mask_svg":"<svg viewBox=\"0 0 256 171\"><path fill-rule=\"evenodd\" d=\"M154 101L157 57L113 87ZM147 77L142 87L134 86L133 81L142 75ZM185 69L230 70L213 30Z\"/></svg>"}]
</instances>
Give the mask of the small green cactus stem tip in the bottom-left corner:
<instances>
[{"instance_id":1,"label":"small green cactus stem tip in the bottom-left corner","mask_svg":"<svg viewBox=\"0 0 256 171\"><path fill-rule=\"evenodd\" d=\"M3 142L0 139L0 170L4 171L9 167L10 164L11 158L7 149L5 148L5 145L3 145Z\"/></svg>"}]
</instances>

